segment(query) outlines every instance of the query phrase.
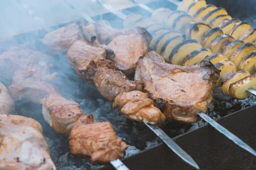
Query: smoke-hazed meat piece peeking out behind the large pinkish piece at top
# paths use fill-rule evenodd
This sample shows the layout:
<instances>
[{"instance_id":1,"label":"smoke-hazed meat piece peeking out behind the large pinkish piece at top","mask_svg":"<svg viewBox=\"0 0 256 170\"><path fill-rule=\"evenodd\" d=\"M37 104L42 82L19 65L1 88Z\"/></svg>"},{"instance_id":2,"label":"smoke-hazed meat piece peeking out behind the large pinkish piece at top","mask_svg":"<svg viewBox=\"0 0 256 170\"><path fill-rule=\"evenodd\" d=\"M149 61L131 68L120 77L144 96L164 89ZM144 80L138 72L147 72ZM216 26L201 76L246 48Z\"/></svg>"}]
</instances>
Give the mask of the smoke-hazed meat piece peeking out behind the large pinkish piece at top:
<instances>
[{"instance_id":1,"label":"smoke-hazed meat piece peeking out behind the large pinkish piece at top","mask_svg":"<svg viewBox=\"0 0 256 170\"><path fill-rule=\"evenodd\" d=\"M84 24L84 22L80 21L80 27L84 34L84 38L88 42L94 42L95 40L97 40L99 44L107 45L115 37L129 34L138 34L146 37L148 36L150 37L149 41L151 41L151 35L148 33L148 31L146 31L145 28L142 27L119 29L111 27L110 24L105 21L101 21L99 23L89 23L87 25Z\"/></svg>"}]
</instances>

